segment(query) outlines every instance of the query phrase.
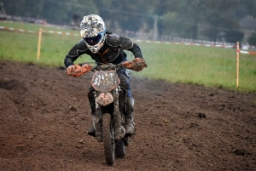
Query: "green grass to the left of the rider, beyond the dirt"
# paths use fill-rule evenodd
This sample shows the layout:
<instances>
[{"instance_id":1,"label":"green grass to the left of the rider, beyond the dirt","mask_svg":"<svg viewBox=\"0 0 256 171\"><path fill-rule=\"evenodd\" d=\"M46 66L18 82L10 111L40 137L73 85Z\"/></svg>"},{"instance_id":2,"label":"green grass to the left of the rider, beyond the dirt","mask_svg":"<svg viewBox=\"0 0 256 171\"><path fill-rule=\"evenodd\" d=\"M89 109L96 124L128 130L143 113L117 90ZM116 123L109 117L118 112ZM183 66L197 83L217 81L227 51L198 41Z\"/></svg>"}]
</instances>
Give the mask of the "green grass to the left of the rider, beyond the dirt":
<instances>
[{"instance_id":1,"label":"green grass to the left of the rider, beyond the dirt","mask_svg":"<svg viewBox=\"0 0 256 171\"><path fill-rule=\"evenodd\" d=\"M22 23L0 22L0 26L12 27L26 31L38 31L42 28L45 31L67 31L78 34L79 31L60 30L58 28L46 26L34 26ZM70 48L80 39L79 36L57 35L43 32L40 59L38 55L38 34L20 31L0 30L0 60L16 60L22 62L32 62L46 66L63 66L64 58ZM85 55L84 55L85 56ZM90 60L88 56L86 61ZM77 60L82 62L82 59Z\"/></svg>"}]
</instances>

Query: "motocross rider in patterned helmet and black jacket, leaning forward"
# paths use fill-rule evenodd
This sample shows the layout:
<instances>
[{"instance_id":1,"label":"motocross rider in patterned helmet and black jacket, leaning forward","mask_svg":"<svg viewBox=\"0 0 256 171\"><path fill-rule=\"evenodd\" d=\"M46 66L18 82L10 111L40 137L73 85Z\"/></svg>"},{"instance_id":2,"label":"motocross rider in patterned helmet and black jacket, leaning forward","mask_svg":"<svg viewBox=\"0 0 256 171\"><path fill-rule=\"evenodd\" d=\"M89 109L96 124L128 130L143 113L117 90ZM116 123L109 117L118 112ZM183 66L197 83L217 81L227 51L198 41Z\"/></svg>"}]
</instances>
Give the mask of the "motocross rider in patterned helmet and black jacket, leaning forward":
<instances>
[{"instance_id":1,"label":"motocross rider in patterned helmet and black jacket, leaning forward","mask_svg":"<svg viewBox=\"0 0 256 171\"><path fill-rule=\"evenodd\" d=\"M127 37L121 37L111 32L106 31L106 26L102 18L96 14L84 16L80 24L80 34L82 39L76 43L68 52L64 64L67 67L66 73L72 77L79 77L85 72L92 69L90 64L84 66L75 65L73 62L79 58L81 54L90 55L91 59L97 64L121 64L121 69L118 71L120 86L127 91L126 112L125 112L125 133L135 133L135 123L133 120L133 105L134 100L131 95L129 69L133 71L142 71L147 67L143 54L137 43L133 43ZM128 61L124 50L129 50L135 56L135 59ZM136 65L134 65L136 64ZM92 88L92 87L90 87ZM92 106L95 106L94 97L89 95L90 106L92 110L93 126L89 129L88 134L96 136L98 141L101 141L101 134L96 133L95 112ZM99 137L98 137L99 136Z\"/></svg>"}]
</instances>

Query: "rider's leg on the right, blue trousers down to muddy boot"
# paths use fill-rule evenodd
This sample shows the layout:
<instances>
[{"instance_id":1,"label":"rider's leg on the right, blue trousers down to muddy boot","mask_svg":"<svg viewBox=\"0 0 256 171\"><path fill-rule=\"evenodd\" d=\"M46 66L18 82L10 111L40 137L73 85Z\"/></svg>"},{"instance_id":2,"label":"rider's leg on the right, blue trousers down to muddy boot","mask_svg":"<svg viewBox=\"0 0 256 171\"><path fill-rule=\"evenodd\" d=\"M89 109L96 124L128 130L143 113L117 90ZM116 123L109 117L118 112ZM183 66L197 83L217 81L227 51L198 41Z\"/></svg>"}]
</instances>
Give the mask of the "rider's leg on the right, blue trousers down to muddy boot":
<instances>
[{"instance_id":1,"label":"rider's leg on the right, blue trousers down to muddy boot","mask_svg":"<svg viewBox=\"0 0 256 171\"><path fill-rule=\"evenodd\" d=\"M118 71L120 86L125 88L127 91L127 100L126 100L126 110L125 110L125 133L126 134L135 134L135 123L133 119L133 105L134 100L131 95L130 88L130 71L125 68L121 68Z\"/></svg>"}]
</instances>

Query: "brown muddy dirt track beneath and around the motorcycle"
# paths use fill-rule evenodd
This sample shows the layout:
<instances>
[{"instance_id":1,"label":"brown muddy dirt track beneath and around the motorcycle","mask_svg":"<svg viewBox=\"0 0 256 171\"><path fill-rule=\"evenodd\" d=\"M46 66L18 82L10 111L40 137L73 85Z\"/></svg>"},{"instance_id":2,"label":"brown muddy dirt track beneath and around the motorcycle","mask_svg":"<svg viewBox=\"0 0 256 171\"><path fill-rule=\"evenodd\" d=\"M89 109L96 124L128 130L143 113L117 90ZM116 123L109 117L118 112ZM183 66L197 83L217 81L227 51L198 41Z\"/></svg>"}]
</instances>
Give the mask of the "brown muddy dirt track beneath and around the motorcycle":
<instances>
[{"instance_id":1,"label":"brown muddy dirt track beneath and around the motorcycle","mask_svg":"<svg viewBox=\"0 0 256 171\"><path fill-rule=\"evenodd\" d=\"M0 61L0 170L256 170L256 93L135 75L137 134L109 167L87 135L91 73Z\"/></svg>"}]
</instances>

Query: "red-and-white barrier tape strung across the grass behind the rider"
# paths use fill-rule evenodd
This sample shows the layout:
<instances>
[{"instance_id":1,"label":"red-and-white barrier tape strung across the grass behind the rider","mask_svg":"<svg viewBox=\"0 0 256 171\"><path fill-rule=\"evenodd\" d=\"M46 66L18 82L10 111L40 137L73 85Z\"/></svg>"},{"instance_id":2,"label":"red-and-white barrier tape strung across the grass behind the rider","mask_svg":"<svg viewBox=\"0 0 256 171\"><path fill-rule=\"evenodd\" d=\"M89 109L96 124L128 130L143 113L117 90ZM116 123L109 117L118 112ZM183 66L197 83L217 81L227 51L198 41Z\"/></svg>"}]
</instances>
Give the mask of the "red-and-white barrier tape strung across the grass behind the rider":
<instances>
[{"instance_id":1,"label":"red-and-white barrier tape strung across the grass behind the rider","mask_svg":"<svg viewBox=\"0 0 256 171\"><path fill-rule=\"evenodd\" d=\"M2 30L9 30L9 31L20 31L20 32L28 32L28 33L34 33L38 34L38 31L26 31L23 29L15 29L11 27L6 26L0 26L0 29ZM46 31L42 30L45 33L51 33L51 34L59 34L59 35L67 35L67 36L79 36L79 34L74 34L70 32L63 32L63 31ZM161 42L161 41L148 41L148 40L135 40L139 43L165 43L165 44L182 44L182 45L191 45L191 46L206 46L206 47L217 47L217 48L236 48L236 45L225 45L225 44L206 44L206 43L173 43L173 42ZM255 46L250 46L250 48L256 48ZM244 50L239 50L239 53L241 54L256 54L256 52L249 52Z\"/></svg>"}]
</instances>

